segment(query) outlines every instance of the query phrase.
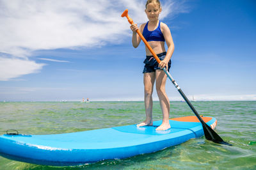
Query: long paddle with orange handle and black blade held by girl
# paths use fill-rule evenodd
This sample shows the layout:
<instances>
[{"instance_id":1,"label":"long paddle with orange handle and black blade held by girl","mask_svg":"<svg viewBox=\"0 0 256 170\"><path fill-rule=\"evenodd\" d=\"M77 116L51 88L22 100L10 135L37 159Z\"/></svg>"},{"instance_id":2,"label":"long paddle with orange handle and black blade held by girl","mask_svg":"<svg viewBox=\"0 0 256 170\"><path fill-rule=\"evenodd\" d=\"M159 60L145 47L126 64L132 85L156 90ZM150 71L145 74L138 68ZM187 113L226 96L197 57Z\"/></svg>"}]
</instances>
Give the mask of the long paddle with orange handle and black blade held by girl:
<instances>
[{"instance_id":1,"label":"long paddle with orange handle and black blade held by girl","mask_svg":"<svg viewBox=\"0 0 256 170\"><path fill-rule=\"evenodd\" d=\"M126 17L128 22L130 24L133 24L133 20L129 17L128 15L128 10L125 10L121 17ZM150 45L148 44L147 40L145 40L144 36L140 33L140 30L138 29L136 31L136 33L138 33L138 35L140 36L141 40L145 43L145 45L148 47L148 50L150 50L151 54L153 54L154 58L156 59L157 63L160 63L161 60L157 57L156 53L154 52L154 50L150 47ZM175 86L175 88L177 88L177 90L179 91L180 95L184 98L184 100L186 101L186 103L189 105L190 109L194 112L194 114L196 115L196 117L198 118L198 120L202 123L203 129L204 129L204 135L205 138L213 141L214 143L220 143L220 144L227 144L227 145L232 145L229 144L225 141L223 141L223 139L221 139L221 137L216 134L216 132L214 132L214 130L212 130L211 127L209 127L204 120L202 120L202 118L199 116L198 112L196 111L196 109L193 107L193 105L191 104L191 102L189 102L188 98L186 97L186 95L183 93L183 91L180 89L179 85L177 84L177 82L175 82L175 80L172 78L172 75L170 75L170 73L166 70L166 68L163 68L164 72L166 73L166 75L169 77L169 79L172 81L173 85Z\"/></svg>"}]
</instances>

